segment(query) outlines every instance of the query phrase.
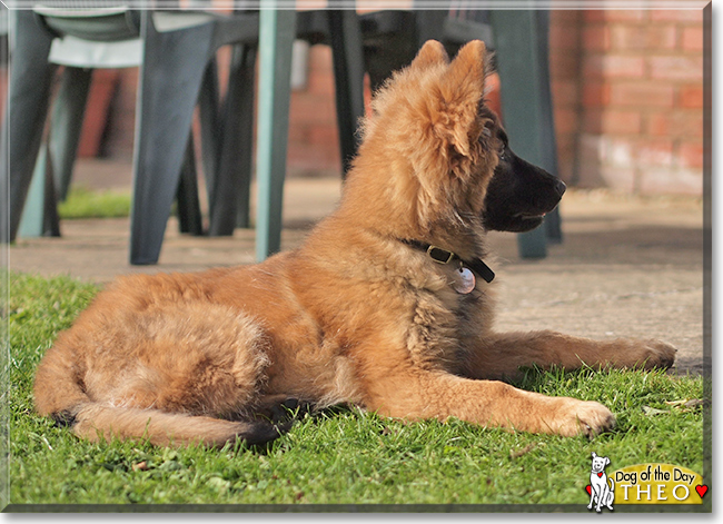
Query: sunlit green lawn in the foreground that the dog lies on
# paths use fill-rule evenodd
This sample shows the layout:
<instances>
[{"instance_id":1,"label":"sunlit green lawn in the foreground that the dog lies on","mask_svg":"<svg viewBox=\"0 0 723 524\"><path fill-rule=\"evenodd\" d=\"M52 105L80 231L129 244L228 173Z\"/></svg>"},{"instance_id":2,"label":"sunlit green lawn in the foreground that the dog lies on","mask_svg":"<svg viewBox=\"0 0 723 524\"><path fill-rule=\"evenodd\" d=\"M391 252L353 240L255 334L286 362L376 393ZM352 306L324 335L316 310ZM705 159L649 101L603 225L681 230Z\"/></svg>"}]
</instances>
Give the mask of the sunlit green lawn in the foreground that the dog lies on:
<instances>
[{"instance_id":1,"label":"sunlit green lawn in the foreground that the dog lies on","mask_svg":"<svg viewBox=\"0 0 723 524\"><path fill-rule=\"evenodd\" d=\"M96 291L69 278L10 275L13 504L574 504L585 512L592 452L610 456L608 473L640 463L703 473L702 409L674 404L702 398L703 380L658 372L529 373L522 387L600 401L617 415L617 428L592 441L334 408L263 449L90 444L37 416L31 386L56 334Z\"/></svg>"}]
</instances>

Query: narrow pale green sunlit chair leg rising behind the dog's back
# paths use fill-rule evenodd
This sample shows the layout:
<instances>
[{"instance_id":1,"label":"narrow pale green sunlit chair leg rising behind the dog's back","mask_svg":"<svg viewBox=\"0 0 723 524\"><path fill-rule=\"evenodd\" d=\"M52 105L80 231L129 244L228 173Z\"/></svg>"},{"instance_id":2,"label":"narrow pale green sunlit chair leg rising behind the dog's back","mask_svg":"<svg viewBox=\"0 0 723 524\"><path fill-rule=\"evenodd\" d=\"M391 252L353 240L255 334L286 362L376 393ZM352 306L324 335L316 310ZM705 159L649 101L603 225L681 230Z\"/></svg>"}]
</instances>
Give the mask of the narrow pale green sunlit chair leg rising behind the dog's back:
<instances>
[{"instance_id":1,"label":"narrow pale green sunlit chair leg rising behind the dog's back","mask_svg":"<svg viewBox=\"0 0 723 524\"><path fill-rule=\"evenodd\" d=\"M259 99L256 258L264 260L281 246L281 206L291 95L291 48L296 12L261 9L259 19Z\"/></svg>"}]
</instances>

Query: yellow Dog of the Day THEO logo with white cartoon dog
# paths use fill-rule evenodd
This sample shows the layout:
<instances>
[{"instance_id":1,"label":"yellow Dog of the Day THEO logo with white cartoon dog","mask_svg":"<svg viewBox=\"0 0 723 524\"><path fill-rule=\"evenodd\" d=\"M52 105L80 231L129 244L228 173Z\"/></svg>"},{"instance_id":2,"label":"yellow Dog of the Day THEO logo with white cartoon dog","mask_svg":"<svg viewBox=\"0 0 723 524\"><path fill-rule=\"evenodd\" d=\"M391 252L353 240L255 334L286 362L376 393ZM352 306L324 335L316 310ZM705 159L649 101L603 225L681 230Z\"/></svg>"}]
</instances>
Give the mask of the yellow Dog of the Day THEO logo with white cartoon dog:
<instances>
[{"instance_id":1,"label":"yellow Dog of the Day THEO logo with white cartoon dog","mask_svg":"<svg viewBox=\"0 0 723 524\"><path fill-rule=\"evenodd\" d=\"M702 504L709 492L703 477L674 464L635 464L606 474L608 457L593 455L588 510L601 512L620 504Z\"/></svg>"}]
</instances>

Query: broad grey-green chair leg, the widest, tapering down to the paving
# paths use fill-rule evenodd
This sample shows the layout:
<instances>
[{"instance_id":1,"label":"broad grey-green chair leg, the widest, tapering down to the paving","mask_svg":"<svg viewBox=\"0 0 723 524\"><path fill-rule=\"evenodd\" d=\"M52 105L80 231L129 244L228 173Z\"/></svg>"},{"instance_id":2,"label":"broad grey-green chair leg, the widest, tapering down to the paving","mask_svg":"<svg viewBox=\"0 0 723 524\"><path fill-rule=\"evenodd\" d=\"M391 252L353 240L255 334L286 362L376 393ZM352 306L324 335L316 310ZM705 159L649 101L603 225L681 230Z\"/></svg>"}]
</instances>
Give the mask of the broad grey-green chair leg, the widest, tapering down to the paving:
<instances>
[{"instance_id":1,"label":"broad grey-green chair leg, the widest, tapering down to the paving","mask_svg":"<svg viewBox=\"0 0 723 524\"><path fill-rule=\"evenodd\" d=\"M143 65L138 92L130 263L156 264L176 195L214 24L158 32L141 13Z\"/></svg>"}]
</instances>

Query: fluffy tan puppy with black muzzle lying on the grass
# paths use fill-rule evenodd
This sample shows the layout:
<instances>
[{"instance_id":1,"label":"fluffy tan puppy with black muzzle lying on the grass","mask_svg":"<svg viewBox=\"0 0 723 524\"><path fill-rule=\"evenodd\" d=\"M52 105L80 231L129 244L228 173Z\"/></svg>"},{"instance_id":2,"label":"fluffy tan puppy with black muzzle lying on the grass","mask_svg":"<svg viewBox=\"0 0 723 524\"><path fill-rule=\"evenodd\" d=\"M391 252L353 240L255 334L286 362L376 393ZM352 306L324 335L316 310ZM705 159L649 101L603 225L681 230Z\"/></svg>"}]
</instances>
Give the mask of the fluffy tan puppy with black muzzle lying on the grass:
<instances>
[{"instance_id":1,"label":"fluffy tan puppy with black muzzle lying on the grass","mask_svg":"<svg viewBox=\"0 0 723 524\"><path fill-rule=\"evenodd\" d=\"M531 229L564 191L509 150L484 106L485 55L473 41L449 62L430 41L393 77L338 209L299 249L100 293L40 364L38 412L89 439L159 445L271 439L255 414L288 398L559 435L612 427L601 404L498 379L533 364L668 366L674 348L495 333L494 284L459 294L459 266L418 248L484 258L487 229Z\"/></svg>"}]
</instances>

